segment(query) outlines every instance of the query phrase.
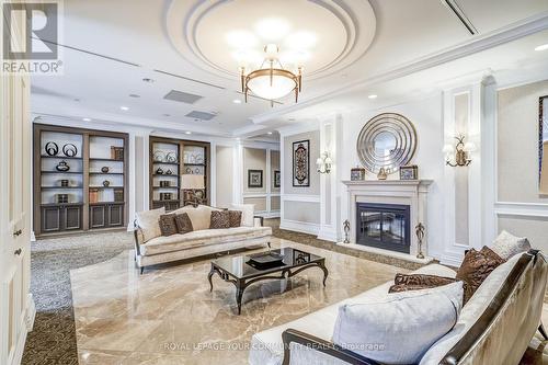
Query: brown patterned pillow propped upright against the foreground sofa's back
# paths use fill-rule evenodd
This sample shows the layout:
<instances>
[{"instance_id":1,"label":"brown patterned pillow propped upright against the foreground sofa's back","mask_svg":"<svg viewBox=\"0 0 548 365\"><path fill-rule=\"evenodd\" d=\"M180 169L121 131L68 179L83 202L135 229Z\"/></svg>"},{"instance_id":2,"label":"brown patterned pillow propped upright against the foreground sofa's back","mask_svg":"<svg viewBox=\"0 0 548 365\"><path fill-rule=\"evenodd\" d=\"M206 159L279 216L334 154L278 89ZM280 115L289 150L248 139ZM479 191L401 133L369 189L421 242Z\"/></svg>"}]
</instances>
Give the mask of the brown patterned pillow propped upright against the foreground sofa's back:
<instances>
[{"instance_id":1,"label":"brown patterned pillow propped upright against the foreground sofa's back","mask_svg":"<svg viewBox=\"0 0 548 365\"><path fill-rule=\"evenodd\" d=\"M471 249L466 253L456 276L456 278L466 283L465 304L471 298L489 274L504 262L504 259L487 246L483 246L481 251Z\"/></svg>"}]
</instances>

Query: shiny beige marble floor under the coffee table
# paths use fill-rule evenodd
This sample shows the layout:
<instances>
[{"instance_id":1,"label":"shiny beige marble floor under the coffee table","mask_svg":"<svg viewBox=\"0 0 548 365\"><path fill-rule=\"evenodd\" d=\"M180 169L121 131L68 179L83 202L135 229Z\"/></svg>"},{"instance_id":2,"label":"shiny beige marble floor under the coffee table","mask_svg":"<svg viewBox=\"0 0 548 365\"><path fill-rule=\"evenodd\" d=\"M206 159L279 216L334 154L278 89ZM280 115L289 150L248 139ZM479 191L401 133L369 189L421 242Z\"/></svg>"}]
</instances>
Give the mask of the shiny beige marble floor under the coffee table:
<instances>
[{"instance_id":1,"label":"shiny beige marble floor under the coffee table","mask_svg":"<svg viewBox=\"0 0 548 365\"><path fill-rule=\"evenodd\" d=\"M309 246L277 238L273 246L310 250ZM326 256L330 272L326 287L318 269L299 273L287 287L279 281L253 285L244 293L241 316L237 315L232 284L214 276L214 290L209 293L210 260L163 265L139 275L132 251L126 251L106 262L72 270L79 363L247 364L253 333L407 272L313 250ZM548 319L548 310L545 315ZM522 364L543 364L545 344L534 339Z\"/></svg>"}]
</instances>

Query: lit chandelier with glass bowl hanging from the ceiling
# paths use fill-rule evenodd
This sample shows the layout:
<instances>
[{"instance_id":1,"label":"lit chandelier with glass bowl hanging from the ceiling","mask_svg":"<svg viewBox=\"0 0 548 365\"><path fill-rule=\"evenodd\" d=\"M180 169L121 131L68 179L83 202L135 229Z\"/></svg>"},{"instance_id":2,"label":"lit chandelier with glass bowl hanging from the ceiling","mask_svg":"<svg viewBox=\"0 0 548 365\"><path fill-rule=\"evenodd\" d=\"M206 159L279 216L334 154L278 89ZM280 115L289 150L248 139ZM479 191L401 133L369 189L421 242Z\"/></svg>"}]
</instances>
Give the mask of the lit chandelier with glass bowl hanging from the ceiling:
<instances>
[{"instance_id":1,"label":"lit chandelier with glass bowl hanging from the ceiling","mask_svg":"<svg viewBox=\"0 0 548 365\"><path fill-rule=\"evenodd\" d=\"M274 106L274 100L292 92L295 92L297 102L302 85L302 67L297 67L295 72L284 69L278 58L279 48L275 44L266 45L264 53L266 56L259 69L247 73L246 67L240 67L241 89L246 95L246 103L250 91L259 98L270 100L271 106Z\"/></svg>"}]
</instances>

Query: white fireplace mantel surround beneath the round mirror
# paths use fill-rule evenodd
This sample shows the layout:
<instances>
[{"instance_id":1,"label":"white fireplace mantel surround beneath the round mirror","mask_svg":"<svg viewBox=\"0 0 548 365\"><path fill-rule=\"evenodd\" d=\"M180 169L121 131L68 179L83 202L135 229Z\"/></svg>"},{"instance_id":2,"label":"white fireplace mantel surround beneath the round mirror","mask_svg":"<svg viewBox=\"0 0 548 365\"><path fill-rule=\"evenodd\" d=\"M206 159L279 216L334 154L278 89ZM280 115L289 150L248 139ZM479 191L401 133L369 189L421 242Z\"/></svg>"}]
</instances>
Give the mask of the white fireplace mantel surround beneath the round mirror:
<instances>
[{"instance_id":1,"label":"white fireplace mantel surround beneath the round mirror","mask_svg":"<svg viewBox=\"0 0 548 365\"><path fill-rule=\"evenodd\" d=\"M427 255L429 223L427 223L427 193L433 180L363 180L343 181L349 192L350 241L356 243L356 203L381 203L409 205L411 220L411 250L410 254L419 253L419 239L414 232L421 223L425 227L422 241L422 253Z\"/></svg>"}]
</instances>

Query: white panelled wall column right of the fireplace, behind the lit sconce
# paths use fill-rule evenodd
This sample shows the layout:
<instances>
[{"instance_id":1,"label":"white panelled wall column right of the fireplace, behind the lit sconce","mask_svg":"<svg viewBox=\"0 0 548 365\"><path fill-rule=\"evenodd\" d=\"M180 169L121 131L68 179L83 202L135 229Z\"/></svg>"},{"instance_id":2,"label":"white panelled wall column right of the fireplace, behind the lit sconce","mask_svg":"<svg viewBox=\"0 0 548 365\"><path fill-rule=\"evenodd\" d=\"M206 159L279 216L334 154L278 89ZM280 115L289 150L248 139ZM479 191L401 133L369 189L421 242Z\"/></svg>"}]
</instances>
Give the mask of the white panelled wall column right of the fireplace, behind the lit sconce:
<instances>
[{"instance_id":1,"label":"white panelled wall column right of the fireplace, behind the lit sconce","mask_svg":"<svg viewBox=\"0 0 548 365\"><path fill-rule=\"evenodd\" d=\"M442 263L459 265L465 250L481 249L494 236L495 98L492 77L444 91L445 142L465 135L476 150L468 167L445 167Z\"/></svg>"}]
</instances>

